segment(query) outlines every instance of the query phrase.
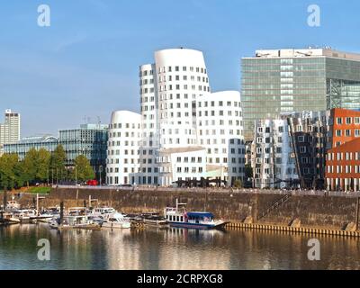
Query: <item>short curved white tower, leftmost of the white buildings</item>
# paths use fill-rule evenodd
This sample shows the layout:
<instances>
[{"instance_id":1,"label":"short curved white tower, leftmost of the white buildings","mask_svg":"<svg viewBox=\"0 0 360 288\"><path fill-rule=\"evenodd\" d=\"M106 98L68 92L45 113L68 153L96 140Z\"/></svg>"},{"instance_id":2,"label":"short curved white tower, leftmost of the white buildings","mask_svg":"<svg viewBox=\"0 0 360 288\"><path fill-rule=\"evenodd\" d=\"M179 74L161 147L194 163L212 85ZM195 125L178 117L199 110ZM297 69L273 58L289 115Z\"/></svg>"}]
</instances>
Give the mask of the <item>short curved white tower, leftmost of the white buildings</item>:
<instances>
[{"instance_id":1,"label":"short curved white tower, leftmost of the white buildings","mask_svg":"<svg viewBox=\"0 0 360 288\"><path fill-rule=\"evenodd\" d=\"M107 184L136 184L140 139L140 114L130 111L112 112L106 165Z\"/></svg>"}]
</instances>

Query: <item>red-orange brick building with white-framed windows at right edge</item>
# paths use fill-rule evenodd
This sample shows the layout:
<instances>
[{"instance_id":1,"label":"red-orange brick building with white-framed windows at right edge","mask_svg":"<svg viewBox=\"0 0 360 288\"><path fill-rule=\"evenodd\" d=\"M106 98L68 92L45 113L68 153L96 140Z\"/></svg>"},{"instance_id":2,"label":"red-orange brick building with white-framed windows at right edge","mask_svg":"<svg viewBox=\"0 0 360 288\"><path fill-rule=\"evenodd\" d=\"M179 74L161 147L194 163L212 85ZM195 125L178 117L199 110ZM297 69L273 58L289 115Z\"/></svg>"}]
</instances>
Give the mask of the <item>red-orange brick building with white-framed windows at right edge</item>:
<instances>
[{"instance_id":1,"label":"red-orange brick building with white-framed windows at right edge","mask_svg":"<svg viewBox=\"0 0 360 288\"><path fill-rule=\"evenodd\" d=\"M360 112L331 110L328 148L327 188L360 191Z\"/></svg>"}]
</instances>

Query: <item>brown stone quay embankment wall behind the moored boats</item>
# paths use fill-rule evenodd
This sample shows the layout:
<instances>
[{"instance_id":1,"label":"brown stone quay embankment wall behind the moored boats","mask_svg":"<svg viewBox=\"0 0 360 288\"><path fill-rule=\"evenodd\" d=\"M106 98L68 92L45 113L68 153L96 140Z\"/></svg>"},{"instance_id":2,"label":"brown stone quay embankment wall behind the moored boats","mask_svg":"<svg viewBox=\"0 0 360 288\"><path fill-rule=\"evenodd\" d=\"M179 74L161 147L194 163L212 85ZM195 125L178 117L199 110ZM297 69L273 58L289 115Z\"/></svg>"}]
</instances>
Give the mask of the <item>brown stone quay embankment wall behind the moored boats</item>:
<instances>
[{"instance_id":1,"label":"brown stone quay embankment wall behind the moored boats","mask_svg":"<svg viewBox=\"0 0 360 288\"><path fill-rule=\"evenodd\" d=\"M283 228L277 227L284 227L284 229L289 227L289 231L297 231L298 228L303 229L299 230L302 232L307 232L307 229L341 231L349 223L356 222L356 198L293 195L264 215L263 212L281 200L284 195L262 193L261 191L258 193L230 193L193 192L191 189L174 192L155 189L151 191L117 191L58 188L53 189L46 199L41 200L40 206L55 206L61 201L65 202L66 207L83 206L84 202L88 203L89 196L97 199L100 205L111 205L125 213L140 211L162 213L167 205L175 205L175 199L178 198L181 202L187 203L190 211L212 211L217 218L229 220L231 222L229 228L281 230ZM33 195L23 195L20 202L25 205L29 204L33 202L33 197ZM291 225L294 220L298 222L298 225ZM355 231L354 228L351 231ZM326 233L330 235L329 232L324 232L324 234ZM356 236L356 233L353 234Z\"/></svg>"}]
</instances>

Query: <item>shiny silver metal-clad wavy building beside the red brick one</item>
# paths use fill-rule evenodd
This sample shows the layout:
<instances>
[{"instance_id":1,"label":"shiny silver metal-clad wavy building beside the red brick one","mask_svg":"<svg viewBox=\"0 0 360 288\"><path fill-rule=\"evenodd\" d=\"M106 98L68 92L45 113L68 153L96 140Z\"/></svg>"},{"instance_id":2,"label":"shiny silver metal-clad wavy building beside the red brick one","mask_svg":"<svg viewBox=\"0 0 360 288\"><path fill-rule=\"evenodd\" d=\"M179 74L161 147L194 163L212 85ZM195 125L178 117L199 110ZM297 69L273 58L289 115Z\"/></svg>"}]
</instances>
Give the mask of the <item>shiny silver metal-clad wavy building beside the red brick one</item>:
<instances>
[{"instance_id":1,"label":"shiny silver metal-clad wavy building beside the red brick one","mask_svg":"<svg viewBox=\"0 0 360 288\"><path fill-rule=\"evenodd\" d=\"M254 185L323 188L329 112L294 112L256 121Z\"/></svg>"}]
</instances>

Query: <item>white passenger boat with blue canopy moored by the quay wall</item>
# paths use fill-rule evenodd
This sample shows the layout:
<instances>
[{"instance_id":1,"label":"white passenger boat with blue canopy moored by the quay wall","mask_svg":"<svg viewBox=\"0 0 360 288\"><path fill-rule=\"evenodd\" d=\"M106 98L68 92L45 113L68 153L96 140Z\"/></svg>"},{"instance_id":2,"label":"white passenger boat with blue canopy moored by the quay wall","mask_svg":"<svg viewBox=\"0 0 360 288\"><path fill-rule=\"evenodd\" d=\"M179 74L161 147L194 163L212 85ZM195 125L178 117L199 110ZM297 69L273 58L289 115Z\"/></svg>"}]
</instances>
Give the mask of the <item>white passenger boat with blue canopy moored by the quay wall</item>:
<instances>
[{"instance_id":1,"label":"white passenger boat with blue canopy moored by the quay wall","mask_svg":"<svg viewBox=\"0 0 360 288\"><path fill-rule=\"evenodd\" d=\"M166 207L164 216L170 227L190 229L220 229L228 222L215 220L211 212L186 211L186 203L179 203L176 199L176 207Z\"/></svg>"}]
</instances>

